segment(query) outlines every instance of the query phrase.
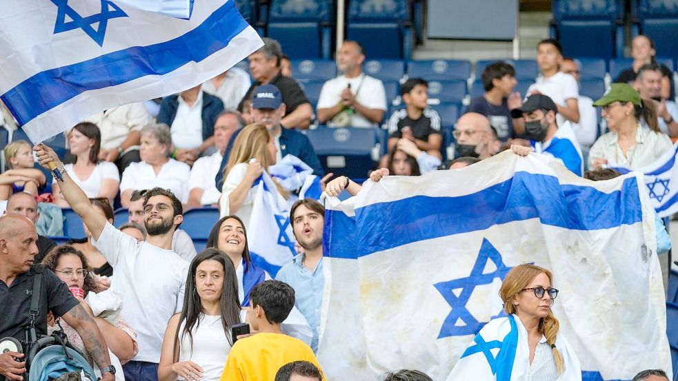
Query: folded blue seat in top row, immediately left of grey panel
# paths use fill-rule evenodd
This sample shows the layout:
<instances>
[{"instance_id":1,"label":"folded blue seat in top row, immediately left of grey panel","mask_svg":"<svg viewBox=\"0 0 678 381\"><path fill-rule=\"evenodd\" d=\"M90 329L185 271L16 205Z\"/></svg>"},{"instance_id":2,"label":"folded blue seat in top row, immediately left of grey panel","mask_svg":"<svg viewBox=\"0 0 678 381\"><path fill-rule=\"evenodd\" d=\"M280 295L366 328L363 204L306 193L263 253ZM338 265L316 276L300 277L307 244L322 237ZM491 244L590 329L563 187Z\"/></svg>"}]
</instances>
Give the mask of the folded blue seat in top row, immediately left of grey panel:
<instances>
[{"instance_id":1,"label":"folded blue seat in top row, immediately left of grey panel","mask_svg":"<svg viewBox=\"0 0 678 381\"><path fill-rule=\"evenodd\" d=\"M359 41L370 59L410 59L412 23L407 0L351 0L346 37Z\"/></svg>"}]
</instances>

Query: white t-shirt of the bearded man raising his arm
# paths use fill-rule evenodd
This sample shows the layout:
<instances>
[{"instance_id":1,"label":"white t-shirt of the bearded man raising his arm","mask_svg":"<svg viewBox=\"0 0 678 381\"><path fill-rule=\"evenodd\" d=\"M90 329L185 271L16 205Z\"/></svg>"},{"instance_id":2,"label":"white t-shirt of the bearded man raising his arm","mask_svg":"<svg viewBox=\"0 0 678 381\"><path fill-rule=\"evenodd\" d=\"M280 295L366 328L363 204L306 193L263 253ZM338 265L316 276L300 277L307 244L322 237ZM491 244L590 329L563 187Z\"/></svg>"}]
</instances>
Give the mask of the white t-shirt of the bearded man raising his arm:
<instances>
[{"instance_id":1,"label":"white t-shirt of the bearded man raising his arm","mask_svg":"<svg viewBox=\"0 0 678 381\"><path fill-rule=\"evenodd\" d=\"M122 294L122 313L137 331L134 360L157 364L167 322L183 307L188 262L174 251L137 243L110 223L92 243L113 267L111 288Z\"/></svg>"}]
</instances>

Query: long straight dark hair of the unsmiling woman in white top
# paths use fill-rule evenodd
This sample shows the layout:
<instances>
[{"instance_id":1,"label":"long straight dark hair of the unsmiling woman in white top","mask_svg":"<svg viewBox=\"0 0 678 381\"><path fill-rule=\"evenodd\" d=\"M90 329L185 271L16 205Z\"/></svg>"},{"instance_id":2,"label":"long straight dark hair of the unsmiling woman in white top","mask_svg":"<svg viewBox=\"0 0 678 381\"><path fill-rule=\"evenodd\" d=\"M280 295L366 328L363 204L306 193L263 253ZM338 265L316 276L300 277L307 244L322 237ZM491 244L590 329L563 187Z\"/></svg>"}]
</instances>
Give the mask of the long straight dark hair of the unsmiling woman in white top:
<instances>
[{"instance_id":1,"label":"long straight dark hair of the unsmiling woman in white top","mask_svg":"<svg viewBox=\"0 0 678 381\"><path fill-rule=\"evenodd\" d=\"M181 338L188 334L191 351L193 351L193 329L200 325L200 316L203 313L202 302L198 295L195 284L195 273L198 265L205 260L216 260L223 266L223 288L221 289L221 325L223 333L226 334L228 343L233 345L230 337L230 327L240 322L240 300L238 298L238 278L230 259L226 254L214 248L204 249L190 262L188 276L186 278L186 291L183 296L183 308L179 316L179 325L177 325L177 334L175 335L174 359L179 360L179 327L181 322L186 321L186 325L181 332Z\"/></svg>"}]
</instances>

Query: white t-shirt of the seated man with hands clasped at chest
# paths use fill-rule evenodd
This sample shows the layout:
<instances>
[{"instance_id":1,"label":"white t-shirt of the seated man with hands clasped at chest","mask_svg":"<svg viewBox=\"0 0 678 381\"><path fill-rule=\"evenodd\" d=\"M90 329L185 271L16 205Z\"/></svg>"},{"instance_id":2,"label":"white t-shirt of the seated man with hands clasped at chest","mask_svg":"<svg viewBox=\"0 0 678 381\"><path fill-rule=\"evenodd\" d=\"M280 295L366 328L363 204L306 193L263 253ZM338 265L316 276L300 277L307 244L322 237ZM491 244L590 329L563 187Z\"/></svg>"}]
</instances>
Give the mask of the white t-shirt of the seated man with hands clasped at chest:
<instances>
[{"instance_id":1,"label":"white t-shirt of the seated man with hands clasped at chest","mask_svg":"<svg viewBox=\"0 0 678 381\"><path fill-rule=\"evenodd\" d=\"M367 108L386 111L386 90L383 89L383 83L379 79L372 78L366 74L360 74L355 78L346 78L346 76L342 75L327 81L320 91L318 108L330 108L337 105L341 101L341 92L348 87L349 83L358 103ZM331 120L328 121L328 125L332 127ZM377 123L372 123L365 116L356 113L352 116L350 126L377 127Z\"/></svg>"}]
</instances>

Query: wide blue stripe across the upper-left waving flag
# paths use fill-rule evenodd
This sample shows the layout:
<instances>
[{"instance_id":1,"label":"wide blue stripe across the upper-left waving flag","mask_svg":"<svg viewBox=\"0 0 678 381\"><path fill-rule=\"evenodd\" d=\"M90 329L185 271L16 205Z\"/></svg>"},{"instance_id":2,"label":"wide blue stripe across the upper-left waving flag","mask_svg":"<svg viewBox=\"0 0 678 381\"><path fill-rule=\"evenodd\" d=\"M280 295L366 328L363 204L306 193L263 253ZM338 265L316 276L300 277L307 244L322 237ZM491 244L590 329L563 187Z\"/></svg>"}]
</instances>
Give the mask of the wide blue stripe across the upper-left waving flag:
<instances>
[{"instance_id":1,"label":"wide blue stripe across the upper-left waving flag","mask_svg":"<svg viewBox=\"0 0 678 381\"><path fill-rule=\"evenodd\" d=\"M39 72L0 99L19 125L88 90L121 85L148 75L168 74L226 48L248 23L228 0L195 29L170 41L133 46L88 61Z\"/></svg>"}]
</instances>

